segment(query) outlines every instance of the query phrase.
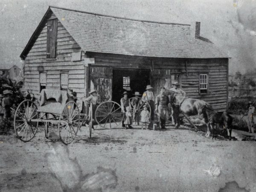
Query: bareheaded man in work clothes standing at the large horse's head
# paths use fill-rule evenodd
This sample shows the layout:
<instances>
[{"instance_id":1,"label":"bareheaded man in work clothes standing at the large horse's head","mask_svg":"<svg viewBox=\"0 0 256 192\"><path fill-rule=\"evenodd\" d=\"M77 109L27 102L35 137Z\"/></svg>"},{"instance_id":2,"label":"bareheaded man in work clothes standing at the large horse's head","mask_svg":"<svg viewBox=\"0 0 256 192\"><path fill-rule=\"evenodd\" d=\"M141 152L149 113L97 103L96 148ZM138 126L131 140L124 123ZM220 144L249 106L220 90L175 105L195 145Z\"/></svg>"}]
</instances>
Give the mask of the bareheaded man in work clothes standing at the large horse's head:
<instances>
[{"instance_id":1,"label":"bareheaded man in work clothes standing at the large horse's head","mask_svg":"<svg viewBox=\"0 0 256 192\"><path fill-rule=\"evenodd\" d=\"M168 113L168 103L169 97L165 95L166 89L164 87L160 88L160 94L156 97L156 113L160 113L160 126L162 129L165 129L166 120L169 118Z\"/></svg>"}]
</instances>

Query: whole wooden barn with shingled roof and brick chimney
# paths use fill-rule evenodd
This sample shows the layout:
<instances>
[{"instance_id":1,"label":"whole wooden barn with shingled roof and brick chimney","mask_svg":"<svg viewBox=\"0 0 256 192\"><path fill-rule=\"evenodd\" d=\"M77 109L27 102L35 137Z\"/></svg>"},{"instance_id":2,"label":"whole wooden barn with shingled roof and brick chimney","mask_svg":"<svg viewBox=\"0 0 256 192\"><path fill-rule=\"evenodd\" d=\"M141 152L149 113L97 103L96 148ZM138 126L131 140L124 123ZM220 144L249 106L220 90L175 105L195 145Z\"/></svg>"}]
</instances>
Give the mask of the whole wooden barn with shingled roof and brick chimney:
<instances>
[{"instance_id":1,"label":"whole wooden barn with shingled roof and brick chimney","mask_svg":"<svg viewBox=\"0 0 256 192\"><path fill-rule=\"evenodd\" d=\"M188 24L134 20L50 6L20 57L25 88L73 89L78 97L97 89L119 102L123 90L143 93L147 84L171 88L224 111L228 55Z\"/></svg>"}]
</instances>

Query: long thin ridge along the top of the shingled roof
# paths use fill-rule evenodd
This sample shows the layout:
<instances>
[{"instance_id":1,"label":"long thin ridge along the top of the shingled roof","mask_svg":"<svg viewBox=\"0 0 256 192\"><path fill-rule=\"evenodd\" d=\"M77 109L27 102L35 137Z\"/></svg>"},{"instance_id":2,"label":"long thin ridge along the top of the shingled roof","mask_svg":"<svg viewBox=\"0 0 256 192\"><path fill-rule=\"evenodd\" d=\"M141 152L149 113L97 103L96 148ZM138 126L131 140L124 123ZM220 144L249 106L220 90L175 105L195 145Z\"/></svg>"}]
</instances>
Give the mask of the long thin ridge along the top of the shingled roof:
<instances>
[{"instance_id":1,"label":"long thin ridge along the top of the shingled roof","mask_svg":"<svg viewBox=\"0 0 256 192\"><path fill-rule=\"evenodd\" d=\"M76 10L76 9L68 9L68 8L63 8L63 7L58 7L58 6L49 6L49 7L50 8L56 8L56 9L63 9L63 10L67 10L67 11L73 11L73 12L81 12L81 13L86 13L86 14L91 14L91 15L99 15L99 16L104 16L104 17L113 17L113 18L117 18L117 19L135 20L135 21L141 21L141 22L147 22L147 23L160 23L160 24L169 24L169 25L185 25L185 26L190 26L190 24L183 24L183 23L167 23L167 22L131 19L131 18L118 17L118 16L113 16L113 15L104 15L104 14L99 14L99 13L79 11L79 10Z\"/></svg>"}]
</instances>

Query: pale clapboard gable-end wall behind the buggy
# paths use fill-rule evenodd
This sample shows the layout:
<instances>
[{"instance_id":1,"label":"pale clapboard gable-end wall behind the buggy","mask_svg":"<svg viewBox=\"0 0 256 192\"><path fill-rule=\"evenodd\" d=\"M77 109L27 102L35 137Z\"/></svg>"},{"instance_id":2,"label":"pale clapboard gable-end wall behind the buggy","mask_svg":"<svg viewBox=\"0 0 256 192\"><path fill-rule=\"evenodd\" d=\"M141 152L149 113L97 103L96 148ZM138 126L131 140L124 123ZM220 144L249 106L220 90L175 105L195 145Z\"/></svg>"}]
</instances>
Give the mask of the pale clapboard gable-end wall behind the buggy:
<instances>
[{"instance_id":1,"label":"pale clapboard gable-end wall behind the buggy","mask_svg":"<svg viewBox=\"0 0 256 192\"><path fill-rule=\"evenodd\" d=\"M51 18L55 15L52 14ZM47 88L60 89L60 72L69 73L68 88L84 96L84 52L58 21L56 58L47 59L47 23L26 57L24 88L39 93L39 72L47 72ZM72 52L81 52L81 61L72 61Z\"/></svg>"}]
</instances>

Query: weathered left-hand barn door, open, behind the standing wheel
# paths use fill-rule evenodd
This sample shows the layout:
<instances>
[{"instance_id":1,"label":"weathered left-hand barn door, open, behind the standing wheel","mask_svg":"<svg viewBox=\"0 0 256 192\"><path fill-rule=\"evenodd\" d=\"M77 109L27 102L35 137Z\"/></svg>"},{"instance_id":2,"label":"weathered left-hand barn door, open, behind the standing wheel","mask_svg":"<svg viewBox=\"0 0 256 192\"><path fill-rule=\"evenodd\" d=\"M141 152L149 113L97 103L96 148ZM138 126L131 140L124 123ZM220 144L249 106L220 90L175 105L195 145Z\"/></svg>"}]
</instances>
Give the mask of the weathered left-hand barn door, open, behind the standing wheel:
<instances>
[{"instance_id":1,"label":"weathered left-hand barn door, open, behind the standing wheel","mask_svg":"<svg viewBox=\"0 0 256 192\"><path fill-rule=\"evenodd\" d=\"M111 67L90 67L90 90L97 90L100 97L112 99L112 77Z\"/></svg>"}]
</instances>

